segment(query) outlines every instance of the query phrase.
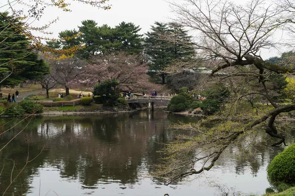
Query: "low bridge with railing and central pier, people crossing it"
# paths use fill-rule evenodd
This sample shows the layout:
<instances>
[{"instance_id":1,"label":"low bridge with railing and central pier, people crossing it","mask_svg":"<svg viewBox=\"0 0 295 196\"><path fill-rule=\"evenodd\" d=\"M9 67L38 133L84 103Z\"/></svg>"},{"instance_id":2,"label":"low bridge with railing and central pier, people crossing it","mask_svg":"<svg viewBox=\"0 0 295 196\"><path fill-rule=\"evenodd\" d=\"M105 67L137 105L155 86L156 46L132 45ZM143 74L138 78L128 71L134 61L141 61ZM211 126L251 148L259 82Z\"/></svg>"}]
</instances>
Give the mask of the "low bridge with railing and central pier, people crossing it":
<instances>
[{"instance_id":1,"label":"low bridge with railing and central pier, people crossing it","mask_svg":"<svg viewBox=\"0 0 295 196\"><path fill-rule=\"evenodd\" d=\"M132 97L130 99L126 98L128 103L148 103L148 109L153 110L154 103L169 103L172 97Z\"/></svg>"}]
</instances>

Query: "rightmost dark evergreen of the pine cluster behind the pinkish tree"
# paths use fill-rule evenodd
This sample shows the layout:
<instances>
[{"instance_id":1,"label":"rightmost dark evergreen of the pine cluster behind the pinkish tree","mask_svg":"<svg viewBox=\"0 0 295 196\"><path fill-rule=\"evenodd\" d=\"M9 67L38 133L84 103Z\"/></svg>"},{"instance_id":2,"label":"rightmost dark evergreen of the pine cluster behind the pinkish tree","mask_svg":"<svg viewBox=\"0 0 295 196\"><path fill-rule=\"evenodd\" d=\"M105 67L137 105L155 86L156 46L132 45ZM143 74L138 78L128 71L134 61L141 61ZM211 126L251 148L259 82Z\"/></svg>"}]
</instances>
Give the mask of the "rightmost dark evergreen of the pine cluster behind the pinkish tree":
<instances>
[{"instance_id":1,"label":"rightmost dark evergreen of the pine cluster behind the pinkish tree","mask_svg":"<svg viewBox=\"0 0 295 196\"><path fill-rule=\"evenodd\" d=\"M143 35L138 34L140 26L133 23L122 22L116 26L116 37L121 46L118 51L124 51L130 55L140 55L143 52Z\"/></svg>"}]
</instances>

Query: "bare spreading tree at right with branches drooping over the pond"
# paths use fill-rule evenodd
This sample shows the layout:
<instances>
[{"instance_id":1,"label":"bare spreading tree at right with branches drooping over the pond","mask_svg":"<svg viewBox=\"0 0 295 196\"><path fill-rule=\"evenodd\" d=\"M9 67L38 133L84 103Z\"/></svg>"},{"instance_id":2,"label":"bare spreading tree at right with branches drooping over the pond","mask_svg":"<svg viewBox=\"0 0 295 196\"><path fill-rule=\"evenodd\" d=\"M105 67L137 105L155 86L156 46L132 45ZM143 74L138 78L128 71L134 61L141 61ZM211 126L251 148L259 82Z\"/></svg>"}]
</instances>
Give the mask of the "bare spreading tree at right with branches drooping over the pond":
<instances>
[{"instance_id":1,"label":"bare spreading tree at right with branches drooping over the pond","mask_svg":"<svg viewBox=\"0 0 295 196\"><path fill-rule=\"evenodd\" d=\"M286 146L284 130L275 121L279 114L295 110L295 103L280 105L273 99L268 85L272 73L295 73L294 64L268 63L260 56L262 49L278 49L286 43L284 39L277 42L275 34L293 26L293 0L277 4L250 0L242 5L226 0L184 1L184 4L172 2L178 15L176 21L197 33L193 44L202 59L218 62L212 76L220 70L227 72L218 78L233 88L227 107L207 119L217 120L212 128L206 128L204 122L174 126L190 130L192 136L178 136L180 140L164 148L163 153L169 156L155 174L166 176L166 184L210 170L228 147L238 143L251 147L249 141L263 127L269 136L277 138L272 146ZM241 98L251 95L264 97L272 108L238 109Z\"/></svg>"}]
</instances>

